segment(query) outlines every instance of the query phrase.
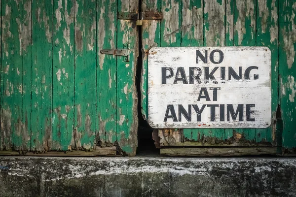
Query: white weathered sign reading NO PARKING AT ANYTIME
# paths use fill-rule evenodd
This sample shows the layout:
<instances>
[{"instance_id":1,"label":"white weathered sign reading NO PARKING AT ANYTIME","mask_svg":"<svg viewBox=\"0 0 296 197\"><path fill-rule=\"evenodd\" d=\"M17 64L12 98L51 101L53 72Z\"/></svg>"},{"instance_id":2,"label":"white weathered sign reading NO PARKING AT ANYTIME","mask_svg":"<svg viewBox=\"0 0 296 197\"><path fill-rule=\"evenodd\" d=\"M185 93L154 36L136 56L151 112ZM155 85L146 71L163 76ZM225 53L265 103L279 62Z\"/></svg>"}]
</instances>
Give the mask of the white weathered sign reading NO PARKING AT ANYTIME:
<instances>
[{"instance_id":1,"label":"white weathered sign reading NO PARKING AT ANYTIME","mask_svg":"<svg viewBox=\"0 0 296 197\"><path fill-rule=\"evenodd\" d=\"M155 47L148 55L153 128L267 128L267 47Z\"/></svg>"}]
</instances>

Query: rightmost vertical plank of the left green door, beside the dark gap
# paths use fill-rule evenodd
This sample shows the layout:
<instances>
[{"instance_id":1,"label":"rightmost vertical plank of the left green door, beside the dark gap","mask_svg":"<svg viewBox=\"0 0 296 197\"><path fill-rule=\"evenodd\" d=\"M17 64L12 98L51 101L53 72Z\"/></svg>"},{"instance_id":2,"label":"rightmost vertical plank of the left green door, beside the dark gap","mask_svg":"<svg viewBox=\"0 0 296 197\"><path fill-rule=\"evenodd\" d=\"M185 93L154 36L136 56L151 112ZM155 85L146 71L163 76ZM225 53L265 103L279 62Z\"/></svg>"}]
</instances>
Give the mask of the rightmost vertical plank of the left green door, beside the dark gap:
<instances>
[{"instance_id":1,"label":"rightmost vertical plank of the left green door, beside the dark gap","mask_svg":"<svg viewBox=\"0 0 296 197\"><path fill-rule=\"evenodd\" d=\"M118 0L118 11L137 12L138 0ZM131 49L130 61L117 56L116 141L120 154L133 156L137 148L137 90L135 86L138 58L138 34L135 22L117 21L117 48Z\"/></svg>"}]
</instances>

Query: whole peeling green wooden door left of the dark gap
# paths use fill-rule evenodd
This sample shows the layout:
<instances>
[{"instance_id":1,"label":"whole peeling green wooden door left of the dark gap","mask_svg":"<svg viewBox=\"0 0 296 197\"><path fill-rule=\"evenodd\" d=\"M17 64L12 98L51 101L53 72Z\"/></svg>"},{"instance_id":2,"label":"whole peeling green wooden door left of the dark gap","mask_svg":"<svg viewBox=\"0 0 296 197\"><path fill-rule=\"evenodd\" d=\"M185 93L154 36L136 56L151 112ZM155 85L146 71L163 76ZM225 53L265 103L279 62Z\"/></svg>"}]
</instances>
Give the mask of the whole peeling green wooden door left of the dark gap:
<instances>
[{"instance_id":1,"label":"whole peeling green wooden door left of the dark gap","mask_svg":"<svg viewBox=\"0 0 296 197\"><path fill-rule=\"evenodd\" d=\"M1 0L0 150L135 155L138 37L117 11L137 9L137 0ZM100 53L127 44L129 62Z\"/></svg>"}]
</instances>

